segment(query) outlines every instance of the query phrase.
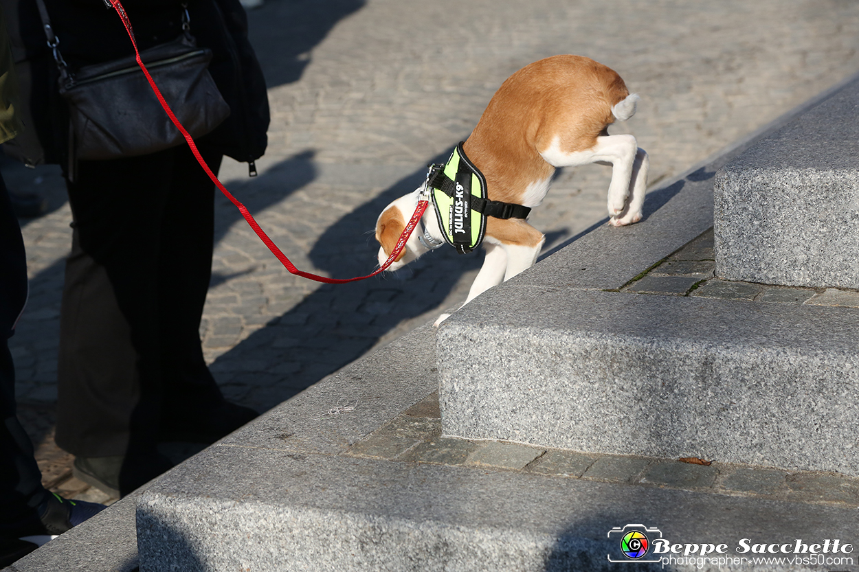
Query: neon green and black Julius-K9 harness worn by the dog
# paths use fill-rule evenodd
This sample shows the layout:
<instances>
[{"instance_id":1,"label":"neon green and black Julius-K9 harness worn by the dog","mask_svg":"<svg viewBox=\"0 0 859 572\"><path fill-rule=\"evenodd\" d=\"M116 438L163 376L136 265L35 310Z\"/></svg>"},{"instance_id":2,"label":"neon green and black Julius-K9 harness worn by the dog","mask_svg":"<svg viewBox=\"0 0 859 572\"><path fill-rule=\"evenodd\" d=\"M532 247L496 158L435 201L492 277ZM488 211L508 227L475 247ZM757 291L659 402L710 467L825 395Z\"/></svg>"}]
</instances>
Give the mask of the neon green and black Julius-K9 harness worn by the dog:
<instances>
[{"instance_id":1,"label":"neon green and black Julius-K9 harness worn by the dog","mask_svg":"<svg viewBox=\"0 0 859 572\"><path fill-rule=\"evenodd\" d=\"M486 178L468 160L462 142L445 164L430 165L427 188L436 208L444 240L460 254L480 246L486 234L486 217L527 218L531 209L521 204L490 201Z\"/></svg>"}]
</instances>

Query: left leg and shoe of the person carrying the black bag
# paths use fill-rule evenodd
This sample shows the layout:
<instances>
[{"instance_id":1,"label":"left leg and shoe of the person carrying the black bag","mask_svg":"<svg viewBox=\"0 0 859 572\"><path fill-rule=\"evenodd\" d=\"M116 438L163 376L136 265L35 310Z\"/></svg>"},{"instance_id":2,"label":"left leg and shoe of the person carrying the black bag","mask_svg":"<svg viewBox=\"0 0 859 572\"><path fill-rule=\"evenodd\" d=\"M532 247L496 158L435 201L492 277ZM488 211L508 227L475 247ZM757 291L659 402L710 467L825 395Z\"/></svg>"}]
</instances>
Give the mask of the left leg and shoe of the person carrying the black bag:
<instances>
[{"instance_id":1,"label":"left leg and shoe of the person carrying the black bag","mask_svg":"<svg viewBox=\"0 0 859 572\"><path fill-rule=\"evenodd\" d=\"M125 494L170 466L161 403L158 271L172 149L81 161L60 316L56 440L90 484ZM94 480L89 480L93 478Z\"/></svg>"}]
</instances>

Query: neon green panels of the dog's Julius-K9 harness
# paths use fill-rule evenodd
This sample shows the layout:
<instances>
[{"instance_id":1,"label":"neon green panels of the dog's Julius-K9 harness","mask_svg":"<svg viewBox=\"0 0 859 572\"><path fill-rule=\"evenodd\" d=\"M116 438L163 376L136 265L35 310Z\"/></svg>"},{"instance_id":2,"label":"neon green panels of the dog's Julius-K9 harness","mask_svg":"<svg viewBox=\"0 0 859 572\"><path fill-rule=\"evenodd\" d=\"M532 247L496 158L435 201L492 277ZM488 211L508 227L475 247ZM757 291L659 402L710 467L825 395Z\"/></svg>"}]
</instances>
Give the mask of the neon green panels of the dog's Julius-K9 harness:
<instances>
[{"instance_id":1,"label":"neon green panels of the dog's Julius-K9 harness","mask_svg":"<svg viewBox=\"0 0 859 572\"><path fill-rule=\"evenodd\" d=\"M483 173L468 161L457 145L444 166L444 173L454 181L453 196L439 188L432 188L436 217L444 240L462 254L469 253L483 242L486 216L472 209L472 197L486 198L486 180Z\"/></svg>"}]
</instances>

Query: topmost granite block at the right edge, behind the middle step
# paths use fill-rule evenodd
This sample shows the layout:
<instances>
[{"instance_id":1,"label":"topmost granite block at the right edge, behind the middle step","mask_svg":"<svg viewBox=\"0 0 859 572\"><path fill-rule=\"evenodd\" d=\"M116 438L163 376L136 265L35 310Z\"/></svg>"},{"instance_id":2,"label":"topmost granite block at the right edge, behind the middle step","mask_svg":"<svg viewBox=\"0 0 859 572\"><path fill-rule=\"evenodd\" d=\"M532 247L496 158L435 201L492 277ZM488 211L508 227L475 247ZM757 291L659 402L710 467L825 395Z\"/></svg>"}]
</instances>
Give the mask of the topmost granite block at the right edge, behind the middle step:
<instances>
[{"instance_id":1,"label":"topmost granite block at the right edge, behind the middle step","mask_svg":"<svg viewBox=\"0 0 859 572\"><path fill-rule=\"evenodd\" d=\"M719 171L716 276L859 288L859 80Z\"/></svg>"}]
</instances>

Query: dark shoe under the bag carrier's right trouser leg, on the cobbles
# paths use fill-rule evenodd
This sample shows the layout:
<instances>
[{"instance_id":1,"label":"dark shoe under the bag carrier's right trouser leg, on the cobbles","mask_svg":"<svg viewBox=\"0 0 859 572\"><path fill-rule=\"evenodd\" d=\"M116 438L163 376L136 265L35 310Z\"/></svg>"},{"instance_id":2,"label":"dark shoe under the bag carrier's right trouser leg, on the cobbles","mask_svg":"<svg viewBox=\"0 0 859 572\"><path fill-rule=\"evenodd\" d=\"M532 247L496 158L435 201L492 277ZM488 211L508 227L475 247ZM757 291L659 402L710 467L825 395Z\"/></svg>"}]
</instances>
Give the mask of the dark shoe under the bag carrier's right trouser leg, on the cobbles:
<instances>
[{"instance_id":1,"label":"dark shoe under the bag carrier's right trouser leg, on the cobbles","mask_svg":"<svg viewBox=\"0 0 859 572\"><path fill-rule=\"evenodd\" d=\"M168 415L161 422L160 441L190 441L210 445L250 423L259 413L229 401L203 411Z\"/></svg>"}]
</instances>

